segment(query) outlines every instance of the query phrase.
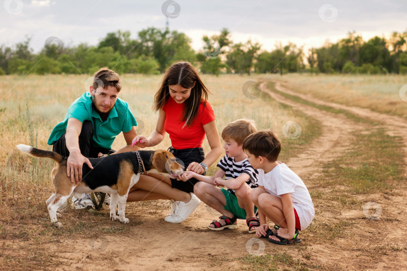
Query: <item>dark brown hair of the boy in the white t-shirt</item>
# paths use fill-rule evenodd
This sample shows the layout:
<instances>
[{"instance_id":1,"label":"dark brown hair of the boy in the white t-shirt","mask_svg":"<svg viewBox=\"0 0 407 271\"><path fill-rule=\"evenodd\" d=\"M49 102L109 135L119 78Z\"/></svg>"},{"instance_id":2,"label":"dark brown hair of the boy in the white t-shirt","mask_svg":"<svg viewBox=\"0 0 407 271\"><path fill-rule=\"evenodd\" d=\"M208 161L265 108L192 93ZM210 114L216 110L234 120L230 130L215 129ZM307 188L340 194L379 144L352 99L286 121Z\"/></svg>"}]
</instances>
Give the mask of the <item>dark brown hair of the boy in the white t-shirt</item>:
<instances>
[{"instance_id":1,"label":"dark brown hair of the boy in the white t-shirt","mask_svg":"<svg viewBox=\"0 0 407 271\"><path fill-rule=\"evenodd\" d=\"M252 133L243 142L243 150L256 157L262 156L275 162L281 151L281 142L272 130L260 130Z\"/></svg>"}]
</instances>

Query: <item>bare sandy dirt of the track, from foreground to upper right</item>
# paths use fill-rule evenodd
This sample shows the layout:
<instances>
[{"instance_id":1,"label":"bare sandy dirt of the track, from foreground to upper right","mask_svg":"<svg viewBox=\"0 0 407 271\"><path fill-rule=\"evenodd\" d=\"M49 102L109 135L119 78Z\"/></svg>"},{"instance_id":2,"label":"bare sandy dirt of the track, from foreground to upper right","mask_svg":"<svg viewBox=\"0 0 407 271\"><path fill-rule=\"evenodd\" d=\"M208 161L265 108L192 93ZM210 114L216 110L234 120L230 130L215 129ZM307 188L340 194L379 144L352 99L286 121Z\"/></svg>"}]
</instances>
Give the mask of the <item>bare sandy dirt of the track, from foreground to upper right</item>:
<instances>
[{"instance_id":1,"label":"bare sandy dirt of the track, from foreground to upper right","mask_svg":"<svg viewBox=\"0 0 407 271\"><path fill-rule=\"evenodd\" d=\"M280 82L276 88L286 93L301 96L303 99L334 108L351 111L364 118L380 121L390 134L399 135L407 143L407 123L404 119L383 115L367 109L349 107L335 103L326 103L307 95L295 93ZM266 89L277 101L293 106L310 117L321 121L322 133L307 150L297 157L285 162L310 190L330 193L333 187L318 187L315 180L322 174L323 165L344 153L351 151L349 146L351 132L365 130L368 124L354 122L342 114L334 114L303 105L284 98ZM406 147L404 147L406 148ZM406 163L407 164L407 163ZM239 257L254 254L283 253L295 260L317 269L354 269L382 270L407 269L407 241L404 233L407 229L405 190L399 189L393 196L382 194L356 195L364 202L374 201L382 207L378 220L367 219L362 209L333 209L329 202L315 201L316 219L328 225L338 220L353 221L352 227L346 228L346 237L330 241L316 240L312 233L304 230L300 233L301 244L278 246L264 239L252 239L254 234L247 232L245 221L239 221L237 230L220 232L206 229L219 213L201 203L191 216L181 224L164 222L165 210L152 210L144 207L140 210L128 204L126 213L131 223L126 234L106 233L97 238L72 239L60 236L59 243L45 243L42 249L55 251L54 260L60 264L56 269L78 270L190 270L250 268ZM159 201L159 204L168 204ZM107 218L106 218L107 219ZM65 224L63 218L60 220ZM139 223L142 221L142 223ZM117 223L117 222L111 222ZM290 267L292 268L292 266Z\"/></svg>"}]
</instances>

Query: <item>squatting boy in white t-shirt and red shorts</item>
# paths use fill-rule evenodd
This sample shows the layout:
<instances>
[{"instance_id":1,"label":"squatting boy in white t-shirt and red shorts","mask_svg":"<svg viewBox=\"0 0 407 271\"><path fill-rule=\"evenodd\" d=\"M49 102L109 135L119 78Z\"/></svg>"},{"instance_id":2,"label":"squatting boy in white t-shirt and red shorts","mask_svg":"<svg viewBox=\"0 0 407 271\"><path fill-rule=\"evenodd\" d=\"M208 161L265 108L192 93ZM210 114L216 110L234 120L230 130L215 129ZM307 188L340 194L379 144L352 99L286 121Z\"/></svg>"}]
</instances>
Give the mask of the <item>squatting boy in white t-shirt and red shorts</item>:
<instances>
[{"instance_id":1,"label":"squatting boy in white t-shirt and red shorts","mask_svg":"<svg viewBox=\"0 0 407 271\"><path fill-rule=\"evenodd\" d=\"M281 143L271 130L257 131L243 142L243 150L259 171L258 188L251 199L259 211L257 236L275 244L300 242L298 231L307 228L315 216L314 204L302 180L278 162ZM269 229L266 217L275 223Z\"/></svg>"}]
</instances>

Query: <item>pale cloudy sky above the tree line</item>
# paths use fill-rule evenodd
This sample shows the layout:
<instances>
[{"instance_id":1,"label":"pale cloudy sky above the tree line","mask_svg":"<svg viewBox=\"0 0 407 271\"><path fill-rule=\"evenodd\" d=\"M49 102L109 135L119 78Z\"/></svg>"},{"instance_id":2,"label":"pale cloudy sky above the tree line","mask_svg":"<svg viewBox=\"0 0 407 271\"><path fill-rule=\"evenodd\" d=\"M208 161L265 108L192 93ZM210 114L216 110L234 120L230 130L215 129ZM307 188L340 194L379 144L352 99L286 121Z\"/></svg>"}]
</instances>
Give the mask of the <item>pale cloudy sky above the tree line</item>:
<instances>
[{"instance_id":1,"label":"pale cloudy sky above the tree line","mask_svg":"<svg viewBox=\"0 0 407 271\"><path fill-rule=\"evenodd\" d=\"M96 45L109 32L130 31L135 39L148 27L185 33L191 46L200 50L202 36L227 28L232 40L251 39L262 50L273 50L277 42L321 47L355 31L367 41L407 31L405 0L386 1L106 1L106 0L2 0L0 46L14 46L31 38L39 52L50 37L64 46ZM52 39L51 39L52 40Z\"/></svg>"}]
</instances>

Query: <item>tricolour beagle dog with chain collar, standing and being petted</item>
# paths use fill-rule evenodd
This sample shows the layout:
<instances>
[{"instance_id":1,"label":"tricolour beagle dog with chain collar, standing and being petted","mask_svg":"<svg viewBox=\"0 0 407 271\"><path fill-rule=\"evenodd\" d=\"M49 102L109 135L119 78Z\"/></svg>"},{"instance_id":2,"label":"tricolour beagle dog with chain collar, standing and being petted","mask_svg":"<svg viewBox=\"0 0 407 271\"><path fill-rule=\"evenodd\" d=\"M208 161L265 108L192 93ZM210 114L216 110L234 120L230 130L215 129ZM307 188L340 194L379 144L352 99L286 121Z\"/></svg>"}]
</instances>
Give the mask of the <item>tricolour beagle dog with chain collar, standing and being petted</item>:
<instances>
[{"instance_id":1,"label":"tricolour beagle dog with chain collar, standing and being petted","mask_svg":"<svg viewBox=\"0 0 407 271\"><path fill-rule=\"evenodd\" d=\"M136 151L89 158L93 169L91 170L86 164L83 164L82 181L76 184L71 183L70 178L66 175L66 157L23 144L17 145L17 148L28 155L51 158L58 163L51 172L55 190L46 201L51 221L58 228L62 227L62 223L58 222L57 216L59 217L60 214L57 213L57 210L71 195L80 198L82 193L110 193L110 218L129 223L129 219L125 217L127 195L130 188L139 181L140 174L159 173L176 178L183 173L183 167L168 151ZM116 214L117 206L118 215Z\"/></svg>"}]
</instances>

